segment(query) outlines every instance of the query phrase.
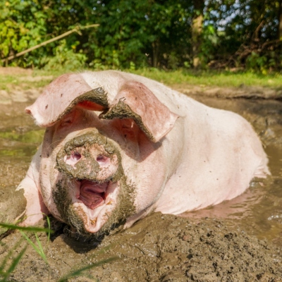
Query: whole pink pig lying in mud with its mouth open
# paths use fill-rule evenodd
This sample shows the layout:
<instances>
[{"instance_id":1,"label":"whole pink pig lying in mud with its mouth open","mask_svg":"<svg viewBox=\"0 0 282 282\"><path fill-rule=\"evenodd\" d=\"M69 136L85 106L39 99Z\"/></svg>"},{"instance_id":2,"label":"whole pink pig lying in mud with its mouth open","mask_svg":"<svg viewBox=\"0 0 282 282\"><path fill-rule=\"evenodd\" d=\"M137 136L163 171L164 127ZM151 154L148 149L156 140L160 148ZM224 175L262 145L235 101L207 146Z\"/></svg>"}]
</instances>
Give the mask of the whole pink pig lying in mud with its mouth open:
<instances>
[{"instance_id":1,"label":"whole pink pig lying in mud with its mouth open","mask_svg":"<svg viewBox=\"0 0 282 282\"><path fill-rule=\"evenodd\" d=\"M25 109L46 128L18 185L24 226L52 214L79 233L231 200L268 159L252 126L139 75L69 73Z\"/></svg>"}]
</instances>

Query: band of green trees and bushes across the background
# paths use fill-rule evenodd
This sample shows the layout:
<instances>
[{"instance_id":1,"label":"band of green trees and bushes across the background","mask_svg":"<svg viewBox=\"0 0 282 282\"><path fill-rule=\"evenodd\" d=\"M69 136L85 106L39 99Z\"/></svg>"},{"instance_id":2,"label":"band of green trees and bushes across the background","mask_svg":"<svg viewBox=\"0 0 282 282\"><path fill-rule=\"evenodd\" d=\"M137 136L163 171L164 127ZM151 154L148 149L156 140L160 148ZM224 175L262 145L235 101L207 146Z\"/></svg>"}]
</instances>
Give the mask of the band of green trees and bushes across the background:
<instances>
[{"instance_id":1,"label":"band of green trees and bushes across the background","mask_svg":"<svg viewBox=\"0 0 282 282\"><path fill-rule=\"evenodd\" d=\"M0 0L0 58L72 30L98 23L30 51L11 66L80 68L243 67L281 70L279 0ZM202 27L192 37L192 23Z\"/></svg>"}]
</instances>

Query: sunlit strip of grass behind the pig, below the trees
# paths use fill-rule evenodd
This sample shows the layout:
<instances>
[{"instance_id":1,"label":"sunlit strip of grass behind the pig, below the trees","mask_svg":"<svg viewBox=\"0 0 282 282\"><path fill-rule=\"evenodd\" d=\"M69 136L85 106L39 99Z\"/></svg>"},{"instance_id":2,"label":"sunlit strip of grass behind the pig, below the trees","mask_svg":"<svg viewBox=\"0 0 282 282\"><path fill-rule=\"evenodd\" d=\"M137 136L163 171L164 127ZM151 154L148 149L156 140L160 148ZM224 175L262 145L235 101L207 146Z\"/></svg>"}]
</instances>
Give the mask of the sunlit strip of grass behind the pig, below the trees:
<instances>
[{"instance_id":1,"label":"sunlit strip of grass behind the pig, below the trees","mask_svg":"<svg viewBox=\"0 0 282 282\"><path fill-rule=\"evenodd\" d=\"M82 71L82 70L78 70ZM89 69L89 71L93 71ZM129 71L129 70L124 70ZM11 91L13 87L21 87L23 90L39 88L48 85L51 80L62 73L67 73L62 69L57 71L32 71L32 75L20 73L17 75L0 75L0 90ZM270 73L263 75L254 72L231 71L193 71L180 69L177 71L161 71L157 68L142 68L129 72L137 75L144 75L147 78L157 80L166 85L201 85L207 87L238 87L240 85L252 85L281 89L282 74Z\"/></svg>"}]
</instances>

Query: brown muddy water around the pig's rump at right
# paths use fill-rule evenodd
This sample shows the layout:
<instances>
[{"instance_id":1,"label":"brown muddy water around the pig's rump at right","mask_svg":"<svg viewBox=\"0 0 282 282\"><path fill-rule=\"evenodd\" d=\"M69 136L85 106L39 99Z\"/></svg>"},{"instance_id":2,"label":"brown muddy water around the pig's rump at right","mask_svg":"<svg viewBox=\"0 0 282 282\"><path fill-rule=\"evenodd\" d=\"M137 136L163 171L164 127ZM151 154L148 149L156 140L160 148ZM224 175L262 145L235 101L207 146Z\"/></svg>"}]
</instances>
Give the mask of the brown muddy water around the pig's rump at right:
<instances>
[{"instance_id":1,"label":"brown muddy water around the pig's rump at right","mask_svg":"<svg viewBox=\"0 0 282 282\"><path fill-rule=\"evenodd\" d=\"M255 180L240 197L184 216L235 219L233 224L257 238L282 245L282 103L273 100L208 99L200 102L235 111L254 126L269 157L271 177Z\"/></svg>"}]
</instances>

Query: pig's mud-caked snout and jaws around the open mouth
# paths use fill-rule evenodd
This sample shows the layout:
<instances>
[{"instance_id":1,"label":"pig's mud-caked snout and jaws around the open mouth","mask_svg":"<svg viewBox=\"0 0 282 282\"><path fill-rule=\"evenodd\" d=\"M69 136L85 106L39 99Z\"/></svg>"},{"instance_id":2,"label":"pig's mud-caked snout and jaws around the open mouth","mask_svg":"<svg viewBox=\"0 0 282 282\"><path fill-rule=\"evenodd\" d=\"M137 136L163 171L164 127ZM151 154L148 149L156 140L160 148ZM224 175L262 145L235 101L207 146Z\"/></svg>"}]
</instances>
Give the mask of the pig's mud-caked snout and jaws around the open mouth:
<instances>
[{"instance_id":1,"label":"pig's mud-caked snout and jaws around the open mouth","mask_svg":"<svg viewBox=\"0 0 282 282\"><path fill-rule=\"evenodd\" d=\"M134 213L134 189L125 183L118 146L95 130L66 142L55 169L54 204L78 231L104 231Z\"/></svg>"}]
</instances>

